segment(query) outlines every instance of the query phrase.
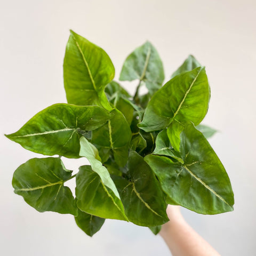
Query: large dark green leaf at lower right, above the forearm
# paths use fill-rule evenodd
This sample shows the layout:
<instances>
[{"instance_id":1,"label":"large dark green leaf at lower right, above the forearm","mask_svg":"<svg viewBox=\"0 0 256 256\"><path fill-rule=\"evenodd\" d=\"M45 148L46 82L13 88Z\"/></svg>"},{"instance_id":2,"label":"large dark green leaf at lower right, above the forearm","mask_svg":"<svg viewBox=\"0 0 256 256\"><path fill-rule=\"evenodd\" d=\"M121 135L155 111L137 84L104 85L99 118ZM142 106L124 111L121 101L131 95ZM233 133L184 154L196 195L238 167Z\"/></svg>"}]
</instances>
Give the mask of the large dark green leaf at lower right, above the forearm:
<instances>
[{"instance_id":1,"label":"large dark green leaf at lower right, above the forearm","mask_svg":"<svg viewBox=\"0 0 256 256\"><path fill-rule=\"evenodd\" d=\"M191 123L181 133L180 150L183 164L165 156L145 157L167 196L202 214L232 211L234 194L228 175L209 142Z\"/></svg>"}]
</instances>

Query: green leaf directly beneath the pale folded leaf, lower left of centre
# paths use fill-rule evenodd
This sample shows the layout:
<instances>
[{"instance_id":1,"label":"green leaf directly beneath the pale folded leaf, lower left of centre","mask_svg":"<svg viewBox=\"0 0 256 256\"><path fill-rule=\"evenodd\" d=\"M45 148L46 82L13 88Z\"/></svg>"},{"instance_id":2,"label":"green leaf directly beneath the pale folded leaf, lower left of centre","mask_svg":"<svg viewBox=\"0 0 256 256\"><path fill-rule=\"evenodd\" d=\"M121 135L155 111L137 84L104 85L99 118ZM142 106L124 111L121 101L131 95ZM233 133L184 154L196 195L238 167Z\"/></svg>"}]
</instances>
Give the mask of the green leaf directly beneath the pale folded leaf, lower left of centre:
<instances>
[{"instance_id":1,"label":"green leaf directly beneath the pale folded leaf, lower left of centre","mask_svg":"<svg viewBox=\"0 0 256 256\"><path fill-rule=\"evenodd\" d=\"M83 212L104 218L127 220L121 200L102 182L90 165L79 167L76 175L77 206Z\"/></svg>"}]
</instances>

